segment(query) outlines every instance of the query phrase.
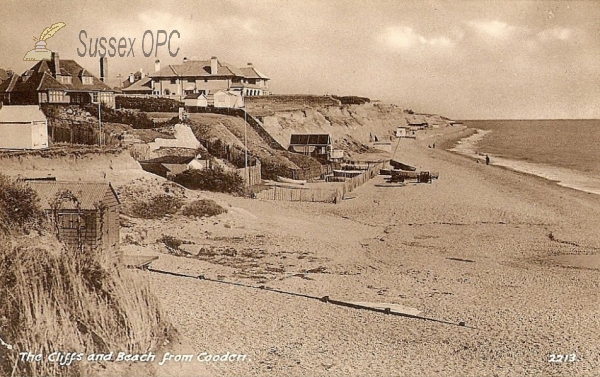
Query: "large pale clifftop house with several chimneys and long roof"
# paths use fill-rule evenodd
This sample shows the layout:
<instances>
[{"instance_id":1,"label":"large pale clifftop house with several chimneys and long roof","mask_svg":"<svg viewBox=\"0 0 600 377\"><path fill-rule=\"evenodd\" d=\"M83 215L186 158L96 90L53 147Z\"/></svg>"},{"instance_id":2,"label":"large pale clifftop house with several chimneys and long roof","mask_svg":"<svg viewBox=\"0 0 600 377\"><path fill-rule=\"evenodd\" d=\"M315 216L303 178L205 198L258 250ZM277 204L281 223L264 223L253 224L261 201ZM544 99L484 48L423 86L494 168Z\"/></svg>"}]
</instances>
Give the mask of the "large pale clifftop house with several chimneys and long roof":
<instances>
[{"instance_id":1,"label":"large pale clifftop house with several chimneys and long roof","mask_svg":"<svg viewBox=\"0 0 600 377\"><path fill-rule=\"evenodd\" d=\"M149 75L152 79L152 94L162 97L181 100L188 94L208 96L220 90L238 92L242 96L269 94L270 79L251 63L247 67L237 68L214 56L210 60L184 58L182 64L171 64L162 69L157 61L155 70Z\"/></svg>"}]
</instances>

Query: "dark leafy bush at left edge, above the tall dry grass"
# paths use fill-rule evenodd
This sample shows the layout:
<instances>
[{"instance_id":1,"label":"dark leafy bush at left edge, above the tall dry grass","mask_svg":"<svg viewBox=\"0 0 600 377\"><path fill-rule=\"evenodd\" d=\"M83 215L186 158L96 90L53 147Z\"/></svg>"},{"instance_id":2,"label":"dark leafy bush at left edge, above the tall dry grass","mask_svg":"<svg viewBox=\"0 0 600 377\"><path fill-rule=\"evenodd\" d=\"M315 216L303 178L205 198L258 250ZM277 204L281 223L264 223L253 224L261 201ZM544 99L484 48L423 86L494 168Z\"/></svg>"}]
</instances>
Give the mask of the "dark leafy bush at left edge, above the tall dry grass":
<instances>
[{"instance_id":1,"label":"dark leafy bush at left edge, above the tall dry grass","mask_svg":"<svg viewBox=\"0 0 600 377\"><path fill-rule=\"evenodd\" d=\"M29 231L39 229L43 219L36 192L26 184L0 174L0 227Z\"/></svg>"}]
</instances>

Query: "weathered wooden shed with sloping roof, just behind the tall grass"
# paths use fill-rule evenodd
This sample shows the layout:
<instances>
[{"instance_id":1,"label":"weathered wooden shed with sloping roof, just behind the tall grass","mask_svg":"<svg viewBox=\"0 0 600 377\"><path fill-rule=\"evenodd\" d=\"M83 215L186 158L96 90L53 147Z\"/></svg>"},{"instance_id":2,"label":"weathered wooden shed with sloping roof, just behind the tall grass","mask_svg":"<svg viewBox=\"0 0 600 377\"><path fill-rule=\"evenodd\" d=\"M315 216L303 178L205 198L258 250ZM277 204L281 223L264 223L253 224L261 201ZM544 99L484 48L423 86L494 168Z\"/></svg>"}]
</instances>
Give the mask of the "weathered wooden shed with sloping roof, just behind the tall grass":
<instances>
[{"instance_id":1,"label":"weathered wooden shed with sloping roof, just behind the tall grass","mask_svg":"<svg viewBox=\"0 0 600 377\"><path fill-rule=\"evenodd\" d=\"M110 183L26 181L42 210L56 222L58 238L82 252L119 257L121 202Z\"/></svg>"}]
</instances>

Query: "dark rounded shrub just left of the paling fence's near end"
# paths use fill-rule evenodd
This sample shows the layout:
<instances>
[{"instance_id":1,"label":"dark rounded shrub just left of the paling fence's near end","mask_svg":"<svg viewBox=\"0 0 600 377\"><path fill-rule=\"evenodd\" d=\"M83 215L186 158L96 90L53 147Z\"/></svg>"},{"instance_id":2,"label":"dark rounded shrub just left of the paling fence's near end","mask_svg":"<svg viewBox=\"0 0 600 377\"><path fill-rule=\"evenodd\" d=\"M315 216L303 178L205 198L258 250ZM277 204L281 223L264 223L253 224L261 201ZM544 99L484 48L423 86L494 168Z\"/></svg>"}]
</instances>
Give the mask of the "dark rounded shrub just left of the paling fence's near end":
<instances>
[{"instance_id":1,"label":"dark rounded shrub just left of the paling fence's near end","mask_svg":"<svg viewBox=\"0 0 600 377\"><path fill-rule=\"evenodd\" d=\"M220 166L211 169L186 170L177 174L173 181L191 190L244 193L244 179L237 172L223 170Z\"/></svg>"}]
</instances>

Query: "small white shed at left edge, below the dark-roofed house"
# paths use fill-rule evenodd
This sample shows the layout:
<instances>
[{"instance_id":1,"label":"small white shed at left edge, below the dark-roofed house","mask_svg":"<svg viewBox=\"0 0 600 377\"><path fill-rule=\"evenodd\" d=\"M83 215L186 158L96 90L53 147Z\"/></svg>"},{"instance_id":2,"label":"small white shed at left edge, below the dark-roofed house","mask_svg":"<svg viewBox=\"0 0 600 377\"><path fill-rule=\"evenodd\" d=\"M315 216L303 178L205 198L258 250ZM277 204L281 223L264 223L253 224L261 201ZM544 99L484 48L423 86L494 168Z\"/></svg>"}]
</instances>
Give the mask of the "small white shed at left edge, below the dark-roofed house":
<instances>
[{"instance_id":1,"label":"small white shed at left edge, below the dark-roofed house","mask_svg":"<svg viewBox=\"0 0 600 377\"><path fill-rule=\"evenodd\" d=\"M48 148L48 121L37 105L0 107L0 149Z\"/></svg>"}]
</instances>

